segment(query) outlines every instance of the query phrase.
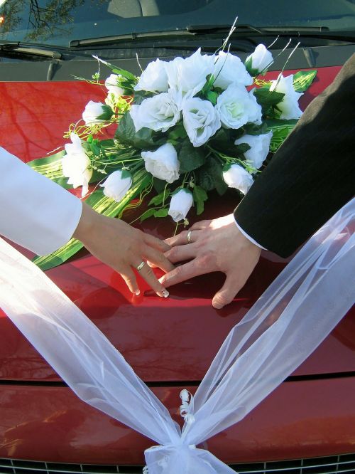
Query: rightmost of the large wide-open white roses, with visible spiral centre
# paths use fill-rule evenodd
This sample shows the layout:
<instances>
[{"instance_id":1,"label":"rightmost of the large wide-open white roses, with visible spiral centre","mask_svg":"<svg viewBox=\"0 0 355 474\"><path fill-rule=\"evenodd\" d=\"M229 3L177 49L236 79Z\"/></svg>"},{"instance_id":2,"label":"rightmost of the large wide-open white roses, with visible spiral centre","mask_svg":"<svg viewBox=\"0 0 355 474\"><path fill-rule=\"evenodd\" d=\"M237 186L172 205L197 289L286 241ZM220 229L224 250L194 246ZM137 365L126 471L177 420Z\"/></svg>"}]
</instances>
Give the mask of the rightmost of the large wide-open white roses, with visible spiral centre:
<instances>
[{"instance_id":1,"label":"rightmost of the large wide-open white roses, with visible spiral centre","mask_svg":"<svg viewBox=\"0 0 355 474\"><path fill-rule=\"evenodd\" d=\"M241 85L231 84L217 98L216 110L226 128L240 128L246 122L256 122L261 118L261 106L253 95Z\"/></svg>"}]
</instances>

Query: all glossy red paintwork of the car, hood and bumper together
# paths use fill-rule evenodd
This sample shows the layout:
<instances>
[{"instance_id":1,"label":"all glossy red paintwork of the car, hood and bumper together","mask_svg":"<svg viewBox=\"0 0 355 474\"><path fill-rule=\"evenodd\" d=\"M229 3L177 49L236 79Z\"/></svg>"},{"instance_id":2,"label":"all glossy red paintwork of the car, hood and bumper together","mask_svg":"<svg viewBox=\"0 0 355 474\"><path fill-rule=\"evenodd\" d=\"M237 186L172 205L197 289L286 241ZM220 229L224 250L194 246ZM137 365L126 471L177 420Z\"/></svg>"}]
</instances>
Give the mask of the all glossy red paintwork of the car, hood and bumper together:
<instances>
[{"instance_id":1,"label":"all glossy red paintwork of the car, hood and bumper together","mask_svg":"<svg viewBox=\"0 0 355 474\"><path fill-rule=\"evenodd\" d=\"M332 82L338 70L318 70L315 83L301 98L302 108ZM270 73L268 78L276 75ZM0 83L1 145L25 162L43 157L62 146L70 120L80 118L88 100L103 98L101 88L78 81ZM216 198L207 216L219 216L221 209L227 214L235 205L232 193L223 200ZM134 215L125 218L131 221ZM173 232L173 225L160 219L146 221L142 228L160 237ZM155 296L141 280L146 291L132 297L117 273L83 251L48 271L48 276L107 335L139 376L161 383L153 391L180 423L180 390L200 381L231 327L285 263L263 253L244 289L223 310L211 306L223 275L175 285L167 300ZM197 328L201 328L199 337ZM339 372L355 372L354 312L295 374ZM0 312L0 381L6 381L0 384L0 457L143 464L143 450L151 441L87 406L70 389L46 384L56 380L58 376ZM21 386L16 381L41 385ZM190 389L195 391L195 386ZM354 391L355 376L285 382L243 421L204 446L234 463L349 453L355 443Z\"/></svg>"}]
</instances>

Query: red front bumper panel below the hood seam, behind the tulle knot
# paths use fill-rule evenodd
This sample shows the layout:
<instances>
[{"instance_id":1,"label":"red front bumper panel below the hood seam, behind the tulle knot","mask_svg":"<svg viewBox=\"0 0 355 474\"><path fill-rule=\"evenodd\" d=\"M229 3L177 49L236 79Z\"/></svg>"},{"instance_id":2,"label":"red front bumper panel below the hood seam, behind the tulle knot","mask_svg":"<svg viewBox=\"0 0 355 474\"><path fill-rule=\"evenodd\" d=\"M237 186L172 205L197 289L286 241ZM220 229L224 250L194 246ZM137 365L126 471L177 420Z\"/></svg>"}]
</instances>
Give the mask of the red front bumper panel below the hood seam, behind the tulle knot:
<instances>
[{"instance_id":1,"label":"red front bumper panel below the hood seam, behind the tulle knot","mask_svg":"<svg viewBox=\"0 0 355 474\"><path fill-rule=\"evenodd\" d=\"M180 422L179 391L153 388ZM352 452L354 391L355 377L284 383L200 447L227 463L329 455L334 447L338 454ZM0 419L0 457L143 465L143 451L152 445L62 387L0 386Z\"/></svg>"}]
</instances>

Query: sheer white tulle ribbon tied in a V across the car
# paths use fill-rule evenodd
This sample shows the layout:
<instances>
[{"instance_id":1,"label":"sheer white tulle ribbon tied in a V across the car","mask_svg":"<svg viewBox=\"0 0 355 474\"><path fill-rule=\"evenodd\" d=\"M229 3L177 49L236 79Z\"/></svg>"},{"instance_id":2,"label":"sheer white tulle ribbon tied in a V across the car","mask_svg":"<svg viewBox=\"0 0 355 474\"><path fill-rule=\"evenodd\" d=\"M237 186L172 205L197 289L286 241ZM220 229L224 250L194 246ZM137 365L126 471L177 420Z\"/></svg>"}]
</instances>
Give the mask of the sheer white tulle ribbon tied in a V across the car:
<instances>
[{"instance_id":1,"label":"sheer white tulle ribbon tied in a V across the car","mask_svg":"<svg viewBox=\"0 0 355 474\"><path fill-rule=\"evenodd\" d=\"M196 448L240 421L327 337L355 300L355 199L275 279L219 349L180 430L97 327L0 239L0 305L83 401L151 438L149 474L234 473Z\"/></svg>"}]
</instances>

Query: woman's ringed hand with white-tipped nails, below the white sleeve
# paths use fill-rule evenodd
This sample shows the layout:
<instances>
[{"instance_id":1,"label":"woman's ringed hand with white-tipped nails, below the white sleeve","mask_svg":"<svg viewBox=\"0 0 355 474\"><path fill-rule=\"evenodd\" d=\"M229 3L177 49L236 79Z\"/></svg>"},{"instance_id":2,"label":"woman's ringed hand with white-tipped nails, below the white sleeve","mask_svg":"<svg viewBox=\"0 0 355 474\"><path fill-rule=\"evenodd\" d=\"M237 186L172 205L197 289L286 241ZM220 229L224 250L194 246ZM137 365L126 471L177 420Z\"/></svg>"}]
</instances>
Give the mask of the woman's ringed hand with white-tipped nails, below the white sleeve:
<instances>
[{"instance_id":1,"label":"woman's ringed hand with white-tipped nails, below the white sleeve","mask_svg":"<svg viewBox=\"0 0 355 474\"><path fill-rule=\"evenodd\" d=\"M136 295L139 294L139 288L132 268L139 267L143 260L149 260L165 272L174 268L163 253L170 248L167 243L120 219L102 216L84 203L73 237L80 240L92 255L121 273L131 292ZM139 273L157 295L169 295L147 263L143 264Z\"/></svg>"}]
</instances>

